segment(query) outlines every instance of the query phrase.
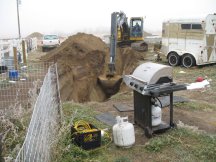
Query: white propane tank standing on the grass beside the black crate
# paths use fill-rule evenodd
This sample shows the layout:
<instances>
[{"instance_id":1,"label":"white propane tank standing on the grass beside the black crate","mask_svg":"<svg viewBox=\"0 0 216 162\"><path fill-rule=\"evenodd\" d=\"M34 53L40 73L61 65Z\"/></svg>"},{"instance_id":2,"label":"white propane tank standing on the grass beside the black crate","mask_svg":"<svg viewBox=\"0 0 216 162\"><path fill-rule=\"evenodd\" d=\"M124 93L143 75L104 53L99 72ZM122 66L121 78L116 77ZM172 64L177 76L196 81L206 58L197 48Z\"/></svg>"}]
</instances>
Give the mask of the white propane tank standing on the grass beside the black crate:
<instances>
[{"instance_id":1,"label":"white propane tank standing on the grass beside the black crate","mask_svg":"<svg viewBox=\"0 0 216 162\"><path fill-rule=\"evenodd\" d=\"M113 126L114 143L120 147L129 148L135 143L133 124L128 122L128 117L116 117L117 124Z\"/></svg>"}]
</instances>

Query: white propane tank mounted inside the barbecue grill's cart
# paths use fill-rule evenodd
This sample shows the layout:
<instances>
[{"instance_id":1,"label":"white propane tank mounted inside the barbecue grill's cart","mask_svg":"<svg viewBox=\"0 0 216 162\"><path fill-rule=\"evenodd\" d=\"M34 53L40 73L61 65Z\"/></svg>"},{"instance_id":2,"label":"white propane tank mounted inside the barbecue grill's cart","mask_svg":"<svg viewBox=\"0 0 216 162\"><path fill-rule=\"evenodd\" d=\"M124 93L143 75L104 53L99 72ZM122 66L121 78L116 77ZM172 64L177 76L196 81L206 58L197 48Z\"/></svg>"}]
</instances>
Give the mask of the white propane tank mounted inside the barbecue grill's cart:
<instances>
[{"instance_id":1,"label":"white propane tank mounted inside the barbecue grill's cart","mask_svg":"<svg viewBox=\"0 0 216 162\"><path fill-rule=\"evenodd\" d=\"M161 108L159 106L152 105L152 126L158 126L161 123Z\"/></svg>"}]
</instances>

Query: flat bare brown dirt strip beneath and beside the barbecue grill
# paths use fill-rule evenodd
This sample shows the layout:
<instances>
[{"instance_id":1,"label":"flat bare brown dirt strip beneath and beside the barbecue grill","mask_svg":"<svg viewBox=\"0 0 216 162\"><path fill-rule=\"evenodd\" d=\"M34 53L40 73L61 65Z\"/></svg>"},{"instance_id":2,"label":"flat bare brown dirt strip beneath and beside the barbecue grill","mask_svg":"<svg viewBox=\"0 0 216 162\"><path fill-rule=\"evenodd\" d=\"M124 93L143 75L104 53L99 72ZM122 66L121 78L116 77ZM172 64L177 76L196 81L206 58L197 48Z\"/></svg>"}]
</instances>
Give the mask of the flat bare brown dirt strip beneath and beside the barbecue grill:
<instances>
[{"instance_id":1,"label":"flat bare brown dirt strip beneath and beside the barbecue grill","mask_svg":"<svg viewBox=\"0 0 216 162\"><path fill-rule=\"evenodd\" d=\"M114 117L121 116L125 117L128 116L129 122L134 123L134 111L130 112L120 112L116 108L114 108L114 104L121 104L126 105L129 107L133 107L133 95L131 90L128 92L122 93L121 97L130 94L130 96L127 97L127 99L112 99L108 100L106 102L102 103L89 103L91 107L94 108L96 112L104 113L109 112ZM169 108L163 108L162 109L162 120L169 124L170 116L169 116ZM173 120L176 124L179 123L179 121L183 122L184 124L187 124L189 126L195 126L199 130L203 130L207 133L215 134L216 133L216 112L205 112L205 111L187 111L181 108L175 108L174 106L174 117ZM144 135L144 129L141 128L138 125L134 125L135 128L135 138L136 143L135 145L145 145L146 142L149 141L147 137ZM157 136L157 134L155 135Z\"/></svg>"}]
</instances>

